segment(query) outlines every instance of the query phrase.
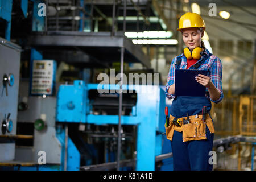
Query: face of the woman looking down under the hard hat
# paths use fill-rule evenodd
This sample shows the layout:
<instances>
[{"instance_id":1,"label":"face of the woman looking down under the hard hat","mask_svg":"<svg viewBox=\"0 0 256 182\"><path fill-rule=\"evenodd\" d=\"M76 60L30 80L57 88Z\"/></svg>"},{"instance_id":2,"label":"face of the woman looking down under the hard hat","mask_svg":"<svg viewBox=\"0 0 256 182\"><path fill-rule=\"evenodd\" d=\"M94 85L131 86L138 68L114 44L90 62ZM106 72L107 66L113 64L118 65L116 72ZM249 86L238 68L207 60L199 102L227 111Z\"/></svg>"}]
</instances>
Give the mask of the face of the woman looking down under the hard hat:
<instances>
[{"instance_id":1,"label":"face of the woman looking down under the hard hat","mask_svg":"<svg viewBox=\"0 0 256 182\"><path fill-rule=\"evenodd\" d=\"M203 36L204 31L201 32L198 28L185 28L182 31L183 42L191 50L201 47L201 38Z\"/></svg>"}]
</instances>

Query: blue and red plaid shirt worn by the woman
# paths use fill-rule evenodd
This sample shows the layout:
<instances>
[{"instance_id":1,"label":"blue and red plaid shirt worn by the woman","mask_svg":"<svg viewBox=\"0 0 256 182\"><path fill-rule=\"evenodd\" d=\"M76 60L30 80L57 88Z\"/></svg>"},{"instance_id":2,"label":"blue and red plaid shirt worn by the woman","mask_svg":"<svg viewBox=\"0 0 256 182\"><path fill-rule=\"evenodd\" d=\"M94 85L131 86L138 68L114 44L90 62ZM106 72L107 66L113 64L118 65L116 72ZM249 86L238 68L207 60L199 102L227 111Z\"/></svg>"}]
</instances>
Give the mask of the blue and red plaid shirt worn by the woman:
<instances>
[{"instance_id":1,"label":"blue and red plaid shirt worn by the woman","mask_svg":"<svg viewBox=\"0 0 256 182\"><path fill-rule=\"evenodd\" d=\"M207 49L205 49L205 51L203 52L203 58L199 60L199 61L202 60L202 64L197 69L208 70L210 72L210 75L208 75L208 76L210 77L210 80L212 80L213 84L216 86L217 90L221 94L221 96L220 96L220 98L218 98L218 100L213 101L212 98L210 98L210 100L214 103L218 103L224 97L224 94L222 91L222 83L221 83L222 64L221 64L221 60L217 56L212 55L209 57L209 53L210 52ZM164 88L164 92L166 93L166 97L168 99L172 99L172 98L176 97L174 94L168 93L168 90L169 90L170 86L175 83L175 63L176 63L177 57L181 57L181 63L180 63L179 69L186 69L186 67L187 67L187 59L183 54L174 57L174 59L172 60L168 78L167 78L166 87ZM199 61L197 61L197 63ZM195 68L193 68L193 65L192 65L189 69L195 69ZM208 91L208 88L206 88L206 91Z\"/></svg>"}]
</instances>

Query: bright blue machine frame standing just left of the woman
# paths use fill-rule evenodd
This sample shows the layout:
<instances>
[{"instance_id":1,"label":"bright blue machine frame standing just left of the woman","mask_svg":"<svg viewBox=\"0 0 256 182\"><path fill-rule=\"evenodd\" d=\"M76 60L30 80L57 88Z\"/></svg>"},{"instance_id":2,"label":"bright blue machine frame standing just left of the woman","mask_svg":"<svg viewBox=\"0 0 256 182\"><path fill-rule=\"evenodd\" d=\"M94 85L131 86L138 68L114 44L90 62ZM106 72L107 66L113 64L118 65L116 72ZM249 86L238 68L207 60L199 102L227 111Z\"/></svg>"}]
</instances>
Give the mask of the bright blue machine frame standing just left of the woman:
<instances>
[{"instance_id":1,"label":"bright blue machine frame standing just left of the woman","mask_svg":"<svg viewBox=\"0 0 256 182\"><path fill-rule=\"evenodd\" d=\"M76 80L73 85L60 85L57 94L56 121L117 125L118 115L113 112L118 108L119 94L113 90L119 90L118 86L85 84L81 80ZM137 126L137 138L134 141L137 143L136 169L154 170L155 156L162 154L165 121L163 111L166 105L164 91L159 86L131 86L132 88L123 85L123 90L129 90L127 91L129 93L123 93L121 124ZM99 89L106 89L107 93L100 94Z\"/></svg>"}]
</instances>

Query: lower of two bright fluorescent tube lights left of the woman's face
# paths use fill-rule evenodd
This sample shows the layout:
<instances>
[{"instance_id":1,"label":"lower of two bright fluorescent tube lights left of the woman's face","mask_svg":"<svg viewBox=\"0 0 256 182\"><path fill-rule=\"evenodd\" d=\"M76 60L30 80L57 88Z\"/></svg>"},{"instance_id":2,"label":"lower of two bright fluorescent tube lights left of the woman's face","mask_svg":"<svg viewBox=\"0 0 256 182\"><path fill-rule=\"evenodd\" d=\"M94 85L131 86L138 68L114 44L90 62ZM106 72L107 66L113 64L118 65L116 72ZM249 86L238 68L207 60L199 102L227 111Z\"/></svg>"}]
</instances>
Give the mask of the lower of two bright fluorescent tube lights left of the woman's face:
<instances>
[{"instance_id":1,"label":"lower of two bright fluorescent tube lights left of the woman's face","mask_svg":"<svg viewBox=\"0 0 256 182\"><path fill-rule=\"evenodd\" d=\"M134 44L159 44L159 45L177 45L176 39L133 39Z\"/></svg>"}]
</instances>

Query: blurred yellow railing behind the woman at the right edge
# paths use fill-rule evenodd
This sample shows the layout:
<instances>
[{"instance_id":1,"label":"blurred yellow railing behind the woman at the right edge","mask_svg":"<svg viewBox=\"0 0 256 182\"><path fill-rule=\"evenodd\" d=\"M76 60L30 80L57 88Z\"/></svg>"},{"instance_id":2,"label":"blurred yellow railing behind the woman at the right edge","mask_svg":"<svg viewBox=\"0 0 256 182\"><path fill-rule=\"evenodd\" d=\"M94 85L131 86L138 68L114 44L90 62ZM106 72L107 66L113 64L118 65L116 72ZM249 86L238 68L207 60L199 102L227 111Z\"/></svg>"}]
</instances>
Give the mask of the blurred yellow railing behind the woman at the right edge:
<instances>
[{"instance_id":1,"label":"blurred yellow railing behind the woman at the right edge","mask_svg":"<svg viewBox=\"0 0 256 182\"><path fill-rule=\"evenodd\" d=\"M256 135L256 96L227 96L211 114L217 135Z\"/></svg>"}]
</instances>

